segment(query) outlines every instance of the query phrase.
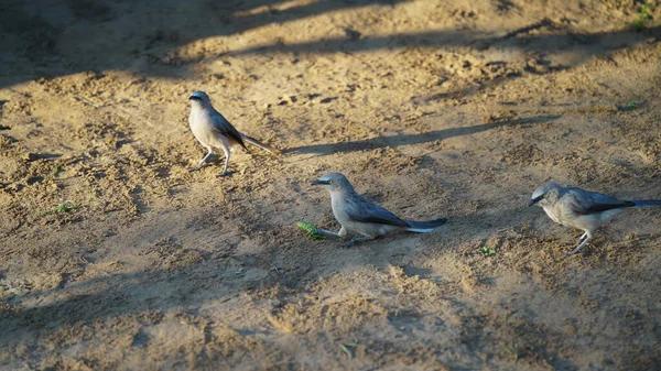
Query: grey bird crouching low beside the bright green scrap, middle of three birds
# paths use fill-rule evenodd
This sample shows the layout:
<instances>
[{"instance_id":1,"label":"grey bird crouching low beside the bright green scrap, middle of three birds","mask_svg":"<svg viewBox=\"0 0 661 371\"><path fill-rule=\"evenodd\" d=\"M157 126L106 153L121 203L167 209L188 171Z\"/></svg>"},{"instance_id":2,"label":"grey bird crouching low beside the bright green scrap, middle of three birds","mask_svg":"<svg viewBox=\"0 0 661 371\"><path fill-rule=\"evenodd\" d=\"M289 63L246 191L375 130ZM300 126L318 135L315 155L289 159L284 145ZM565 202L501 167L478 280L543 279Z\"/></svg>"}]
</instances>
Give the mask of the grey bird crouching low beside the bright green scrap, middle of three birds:
<instances>
[{"instance_id":1,"label":"grey bird crouching low beside the bright green scrap, middle of three birds","mask_svg":"<svg viewBox=\"0 0 661 371\"><path fill-rule=\"evenodd\" d=\"M343 243L348 247L358 241L371 240L392 231L410 231L426 233L443 226L447 219L438 218L430 221L412 221L400 219L384 208L371 204L354 190L351 183L340 173L329 173L313 181L313 185L322 185L330 193L330 206L335 219L342 226L339 232L317 229L327 236L343 238L353 231L362 234Z\"/></svg>"}]
</instances>

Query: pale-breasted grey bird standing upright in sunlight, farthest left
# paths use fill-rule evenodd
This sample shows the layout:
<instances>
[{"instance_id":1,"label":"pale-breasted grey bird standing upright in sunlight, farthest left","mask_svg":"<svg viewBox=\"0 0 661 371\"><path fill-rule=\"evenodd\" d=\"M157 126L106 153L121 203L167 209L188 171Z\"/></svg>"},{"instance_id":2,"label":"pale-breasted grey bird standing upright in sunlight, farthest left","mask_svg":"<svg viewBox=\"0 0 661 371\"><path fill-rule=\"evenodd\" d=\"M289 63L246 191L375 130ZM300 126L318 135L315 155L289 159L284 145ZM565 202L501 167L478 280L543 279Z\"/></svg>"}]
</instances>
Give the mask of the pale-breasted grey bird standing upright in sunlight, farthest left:
<instances>
[{"instance_id":1,"label":"pale-breasted grey bird standing upright in sunlight, farthest left","mask_svg":"<svg viewBox=\"0 0 661 371\"><path fill-rule=\"evenodd\" d=\"M220 149L225 152L225 167L220 175L227 175L230 149L231 145L235 144L239 144L246 151L248 151L246 143L250 143L270 153L280 153L280 151L261 143L254 138L242 134L235 129L235 127L232 127L231 123L229 123L229 121L212 106L212 100L206 92L193 91L191 97L188 97L188 100L191 100L191 114L188 116L191 131L197 141L199 141L207 150L207 154L202 159L197 166L193 167L193 171L198 170L204 165L206 160L214 152L214 149Z\"/></svg>"}]
</instances>

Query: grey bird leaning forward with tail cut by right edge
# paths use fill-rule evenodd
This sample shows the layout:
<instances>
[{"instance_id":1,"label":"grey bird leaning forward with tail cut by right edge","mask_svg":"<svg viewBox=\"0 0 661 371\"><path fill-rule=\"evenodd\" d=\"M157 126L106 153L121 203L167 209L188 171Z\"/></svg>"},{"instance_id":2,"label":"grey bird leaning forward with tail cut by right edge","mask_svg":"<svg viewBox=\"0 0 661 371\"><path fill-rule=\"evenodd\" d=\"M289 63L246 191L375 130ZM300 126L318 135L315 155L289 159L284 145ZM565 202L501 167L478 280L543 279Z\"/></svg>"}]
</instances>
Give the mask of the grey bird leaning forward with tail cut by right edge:
<instances>
[{"instance_id":1,"label":"grey bird leaning forward with tail cut by right edge","mask_svg":"<svg viewBox=\"0 0 661 371\"><path fill-rule=\"evenodd\" d=\"M556 183L548 182L532 193L528 206L532 205L541 206L549 218L559 225L584 231L577 241L578 245L566 253L573 255L581 252L592 240L595 230L610 218L625 209L661 207L661 200L620 200L596 192L578 187L562 187Z\"/></svg>"}]
</instances>

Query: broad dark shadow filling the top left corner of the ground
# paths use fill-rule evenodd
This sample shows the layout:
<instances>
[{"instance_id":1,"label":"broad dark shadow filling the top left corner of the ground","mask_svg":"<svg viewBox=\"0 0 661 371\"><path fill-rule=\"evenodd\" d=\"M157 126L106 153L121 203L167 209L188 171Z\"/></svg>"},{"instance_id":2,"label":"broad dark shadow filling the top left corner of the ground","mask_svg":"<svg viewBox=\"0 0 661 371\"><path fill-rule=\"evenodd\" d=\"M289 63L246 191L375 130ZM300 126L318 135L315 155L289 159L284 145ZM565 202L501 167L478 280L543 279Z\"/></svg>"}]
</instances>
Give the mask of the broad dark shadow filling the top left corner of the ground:
<instances>
[{"instance_id":1,"label":"broad dark shadow filling the top left corner of the ground","mask_svg":"<svg viewBox=\"0 0 661 371\"><path fill-rule=\"evenodd\" d=\"M178 76L182 65L195 61L171 58L169 54L196 40L400 1L405 0L297 6L269 0L9 0L0 12L0 31L6 34L0 37L0 61L11 73L0 74L0 87L80 72L123 69L147 76Z\"/></svg>"}]
</instances>

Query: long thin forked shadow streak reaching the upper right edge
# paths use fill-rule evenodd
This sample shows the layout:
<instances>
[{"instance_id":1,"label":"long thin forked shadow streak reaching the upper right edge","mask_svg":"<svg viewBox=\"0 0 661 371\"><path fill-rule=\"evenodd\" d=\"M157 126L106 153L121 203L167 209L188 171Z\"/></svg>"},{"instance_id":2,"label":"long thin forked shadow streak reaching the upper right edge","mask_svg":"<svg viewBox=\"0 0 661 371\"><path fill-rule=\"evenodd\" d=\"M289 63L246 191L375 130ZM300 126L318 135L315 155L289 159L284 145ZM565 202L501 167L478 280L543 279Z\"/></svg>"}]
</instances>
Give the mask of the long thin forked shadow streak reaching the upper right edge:
<instances>
[{"instance_id":1,"label":"long thin forked shadow streak reaching the upper right edge","mask_svg":"<svg viewBox=\"0 0 661 371\"><path fill-rule=\"evenodd\" d=\"M545 31L540 33L540 30ZM625 28L613 32L581 33L572 31L568 26L544 19L500 36L494 36L495 33L496 32L480 32L474 30L444 30L358 39L347 35L346 37L327 37L293 44L277 43L250 46L229 52L228 55L241 56L251 54L290 53L300 56L305 54L332 54L338 52L355 54L380 50L408 50L413 47L452 50L453 47L468 46L474 47L479 52L489 50L520 50L527 55L532 55L535 58L535 65L525 66L521 70L501 73L494 78L475 81L479 85L478 89L475 87L460 88L451 92L434 94L423 98L423 100L429 101L447 97L467 96L485 87L499 85L511 78L519 78L523 76L523 72L534 75L546 75L552 72L573 68L594 56L605 56L619 50L632 47L637 44L649 42L650 37L658 40L661 37L661 26L639 31L632 31ZM572 58L564 61L563 64L559 64L553 59L560 55L572 55ZM489 62L486 66L481 67L481 69L497 69L498 65L506 66L507 63L502 61ZM502 69L505 70L505 68Z\"/></svg>"}]
</instances>

